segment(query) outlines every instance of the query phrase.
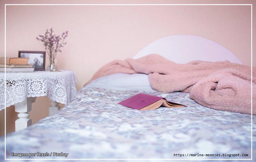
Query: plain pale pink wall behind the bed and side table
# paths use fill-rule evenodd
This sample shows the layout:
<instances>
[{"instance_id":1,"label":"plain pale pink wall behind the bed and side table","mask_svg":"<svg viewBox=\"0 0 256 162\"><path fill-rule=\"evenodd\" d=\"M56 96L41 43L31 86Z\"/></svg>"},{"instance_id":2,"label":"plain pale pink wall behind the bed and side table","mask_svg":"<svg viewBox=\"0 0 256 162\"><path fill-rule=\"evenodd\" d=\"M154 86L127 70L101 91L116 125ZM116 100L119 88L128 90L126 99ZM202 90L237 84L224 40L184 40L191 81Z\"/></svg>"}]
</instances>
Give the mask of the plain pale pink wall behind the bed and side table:
<instances>
[{"instance_id":1,"label":"plain pale pink wall behind the bed and side table","mask_svg":"<svg viewBox=\"0 0 256 162\"><path fill-rule=\"evenodd\" d=\"M1 0L0 2L1 57L4 56L4 4L20 4L20 2L16 0ZM52 2L49 0L22 1L22 3L33 4ZM67 0L54 2L56 4L95 3L94 1ZM117 4L127 2L138 4L145 2L151 4L191 3L190 0L97 2ZM223 3L223 1L193 1L193 3L199 4L205 2ZM225 2L241 3L237 0ZM242 3L252 4L254 2L245 0ZM58 56L58 67L77 72L77 89L82 88L82 85L102 65L114 59L133 57L152 41L169 35L189 34L208 38L229 49L245 65L251 64L251 6L6 6L6 56L17 57L18 50L43 50L36 41L36 36L43 34L47 28L51 27L56 34L69 30L67 45ZM255 49L254 44L253 49ZM253 60L253 64L256 65L256 61ZM47 115L49 102L48 105L42 107L42 103L46 102L48 102L46 98L37 99L34 106L40 107L40 109L32 110L33 123Z\"/></svg>"}]
</instances>

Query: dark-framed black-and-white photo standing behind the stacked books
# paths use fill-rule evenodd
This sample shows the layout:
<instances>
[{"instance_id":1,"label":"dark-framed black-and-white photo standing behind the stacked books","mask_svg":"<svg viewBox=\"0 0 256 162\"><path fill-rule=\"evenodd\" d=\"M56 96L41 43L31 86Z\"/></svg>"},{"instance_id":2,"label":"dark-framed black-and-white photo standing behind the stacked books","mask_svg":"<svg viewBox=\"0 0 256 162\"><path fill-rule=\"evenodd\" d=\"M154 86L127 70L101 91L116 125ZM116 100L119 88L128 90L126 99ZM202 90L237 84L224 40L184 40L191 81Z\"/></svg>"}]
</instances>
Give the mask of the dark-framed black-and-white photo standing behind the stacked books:
<instances>
[{"instance_id":1,"label":"dark-framed black-and-white photo standing behind the stacked books","mask_svg":"<svg viewBox=\"0 0 256 162\"><path fill-rule=\"evenodd\" d=\"M35 70L45 70L45 51L19 51L18 57L29 58L28 64L33 65Z\"/></svg>"}]
</instances>

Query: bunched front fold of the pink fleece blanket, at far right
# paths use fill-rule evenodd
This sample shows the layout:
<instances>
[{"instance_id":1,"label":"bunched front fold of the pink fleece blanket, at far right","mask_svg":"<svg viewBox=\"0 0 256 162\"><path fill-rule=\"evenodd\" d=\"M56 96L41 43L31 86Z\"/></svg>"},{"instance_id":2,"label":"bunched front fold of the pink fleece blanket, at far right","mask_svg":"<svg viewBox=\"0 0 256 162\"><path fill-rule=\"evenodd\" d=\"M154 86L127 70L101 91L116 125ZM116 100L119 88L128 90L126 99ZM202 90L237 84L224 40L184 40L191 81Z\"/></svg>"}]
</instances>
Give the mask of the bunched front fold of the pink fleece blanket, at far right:
<instances>
[{"instance_id":1,"label":"bunched front fold of the pink fleece blanket, at far right","mask_svg":"<svg viewBox=\"0 0 256 162\"><path fill-rule=\"evenodd\" d=\"M189 97L215 110L246 114L252 111L256 115L256 84L251 84L250 72L235 69L216 71L197 82Z\"/></svg>"}]
</instances>

